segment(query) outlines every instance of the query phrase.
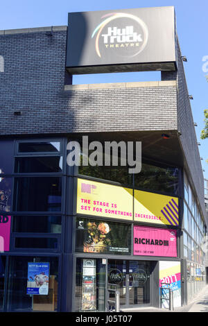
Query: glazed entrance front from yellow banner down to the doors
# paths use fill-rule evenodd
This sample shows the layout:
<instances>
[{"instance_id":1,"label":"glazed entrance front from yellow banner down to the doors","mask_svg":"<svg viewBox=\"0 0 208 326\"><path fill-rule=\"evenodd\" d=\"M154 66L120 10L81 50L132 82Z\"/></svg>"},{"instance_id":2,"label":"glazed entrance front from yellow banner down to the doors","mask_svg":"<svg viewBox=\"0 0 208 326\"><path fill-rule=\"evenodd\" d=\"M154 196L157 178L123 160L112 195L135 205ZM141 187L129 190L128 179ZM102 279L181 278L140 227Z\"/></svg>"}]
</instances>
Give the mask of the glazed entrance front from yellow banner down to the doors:
<instances>
[{"instance_id":1,"label":"glazed entrance front from yellow banner down to the doors","mask_svg":"<svg viewBox=\"0 0 208 326\"><path fill-rule=\"evenodd\" d=\"M107 289L119 290L121 309L159 307L167 282L180 307L178 198L83 178L76 186L73 311L108 311Z\"/></svg>"}]
</instances>

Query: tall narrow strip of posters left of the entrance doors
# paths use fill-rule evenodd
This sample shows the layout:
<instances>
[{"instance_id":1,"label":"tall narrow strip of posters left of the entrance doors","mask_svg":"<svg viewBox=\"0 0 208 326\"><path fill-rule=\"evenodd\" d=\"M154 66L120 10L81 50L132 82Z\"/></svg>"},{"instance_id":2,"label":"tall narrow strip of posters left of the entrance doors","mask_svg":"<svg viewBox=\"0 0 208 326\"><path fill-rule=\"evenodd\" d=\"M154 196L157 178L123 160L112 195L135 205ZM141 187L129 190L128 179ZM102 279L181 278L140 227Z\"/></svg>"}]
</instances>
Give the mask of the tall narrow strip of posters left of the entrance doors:
<instances>
[{"instance_id":1,"label":"tall narrow strip of posters left of the entrance doors","mask_svg":"<svg viewBox=\"0 0 208 326\"><path fill-rule=\"evenodd\" d=\"M83 259L82 310L96 310L95 259Z\"/></svg>"}]
</instances>

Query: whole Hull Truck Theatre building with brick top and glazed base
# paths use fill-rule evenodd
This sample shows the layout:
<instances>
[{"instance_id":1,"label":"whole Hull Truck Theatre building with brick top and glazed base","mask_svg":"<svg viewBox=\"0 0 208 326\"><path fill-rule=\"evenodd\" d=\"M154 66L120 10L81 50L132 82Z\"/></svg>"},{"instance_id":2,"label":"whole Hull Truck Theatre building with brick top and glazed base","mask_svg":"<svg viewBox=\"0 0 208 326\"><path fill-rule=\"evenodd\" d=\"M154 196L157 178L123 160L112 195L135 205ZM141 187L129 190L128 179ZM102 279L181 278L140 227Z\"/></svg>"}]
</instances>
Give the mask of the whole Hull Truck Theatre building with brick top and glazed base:
<instances>
[{"instance_id":1,"label":"whole Hull Truck Theatre building with brick top and glazed base","mask_svg":"<svg viewBox=\"0 0 208 326\"><path fill-rule=\"evenodd\" d=\"M204 181L175 24L158 7L0 31L0 311L108 311L110 287L121 310L167 308L164 283L181 307L205 286ZM87 83L132 71L161 78ZM105 164L106 144L136 156L141 144L141 171L113 154Z\"/></svg>"}]
</instances>

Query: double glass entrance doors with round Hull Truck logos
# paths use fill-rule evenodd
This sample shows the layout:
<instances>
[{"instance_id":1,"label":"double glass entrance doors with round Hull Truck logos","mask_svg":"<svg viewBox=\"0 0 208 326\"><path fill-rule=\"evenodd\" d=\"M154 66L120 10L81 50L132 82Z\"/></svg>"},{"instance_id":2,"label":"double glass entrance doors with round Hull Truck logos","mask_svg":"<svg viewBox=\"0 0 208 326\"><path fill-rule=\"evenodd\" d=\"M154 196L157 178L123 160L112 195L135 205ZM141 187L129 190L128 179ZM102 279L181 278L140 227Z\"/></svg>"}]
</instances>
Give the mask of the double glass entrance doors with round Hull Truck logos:
<instances>
[{"instance_id":1,"label":"double glass entrance doors with round Hull Truck logos","mask_svg":"<svg viewBox=\"0 0 208 326\"><path fill-rule=\"evenodd\" d=\"M108 289L120 291L121 306L150 304L150 261L108 261ZM114 300L114 292L109 293Z\"/></svg>"}]
</instances>

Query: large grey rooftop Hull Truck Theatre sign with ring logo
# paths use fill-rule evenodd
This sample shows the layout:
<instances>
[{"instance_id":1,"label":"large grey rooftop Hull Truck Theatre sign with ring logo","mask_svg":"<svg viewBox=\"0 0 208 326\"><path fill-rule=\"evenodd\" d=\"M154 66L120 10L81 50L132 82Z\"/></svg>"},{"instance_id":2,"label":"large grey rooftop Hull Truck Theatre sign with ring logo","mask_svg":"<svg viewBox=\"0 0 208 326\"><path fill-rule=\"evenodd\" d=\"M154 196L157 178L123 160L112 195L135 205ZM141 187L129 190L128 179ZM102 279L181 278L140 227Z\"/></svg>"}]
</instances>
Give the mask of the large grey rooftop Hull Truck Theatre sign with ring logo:
<instances>
[{"instance_id":1,"label":"large grey rooftop Hull Truck Theatre sign with ring logo","mask_svg":"<svg viewBox=\"0 0 208 326\"><path fill-rule=\"evenodd\" d=\"M175 70L173 7L69 13L71 74Z\"/></svg>"}]
</instances>

